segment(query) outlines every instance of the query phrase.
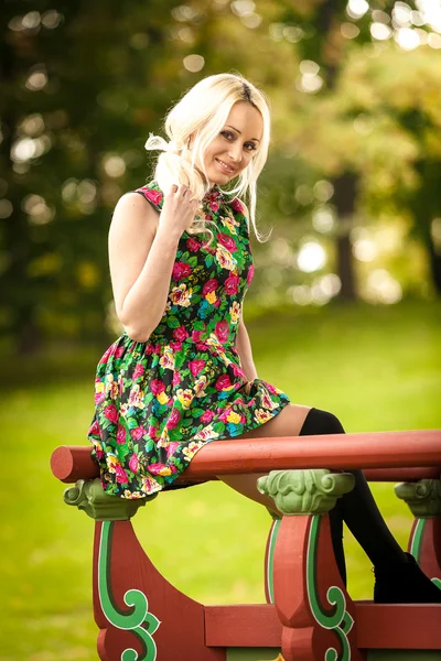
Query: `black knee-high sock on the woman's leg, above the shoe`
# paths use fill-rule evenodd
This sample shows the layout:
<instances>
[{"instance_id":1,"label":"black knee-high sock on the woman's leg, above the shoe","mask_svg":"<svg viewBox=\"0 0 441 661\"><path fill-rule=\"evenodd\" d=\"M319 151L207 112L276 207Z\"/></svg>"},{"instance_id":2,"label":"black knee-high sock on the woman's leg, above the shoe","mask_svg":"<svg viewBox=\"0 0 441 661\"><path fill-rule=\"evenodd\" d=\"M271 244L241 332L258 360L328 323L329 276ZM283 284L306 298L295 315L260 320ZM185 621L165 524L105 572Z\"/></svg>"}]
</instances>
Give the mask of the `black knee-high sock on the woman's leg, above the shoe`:
<instances>
[{"instance_id":1,"label":"black knee-high sock on the woman's leg, above the shoe","mask_svg":"<svg viewBox=\"0 0 441 661\"><path fill-rule=\"evenodd\" d=\"M316 434L344 433L345 431L342 423L333 413L313 408L305 418L300 435L312 436ZM397 563L407 562L405 552L391 534L378 510L363 470L348 470L347 473L352 473L355 477L354 489L338 499L337 503L340 511L338 516L334 514L334 521L331 517L331 529L333 527L335 529L333 533L333 543L337 563L338 556L343 553L343 544L341 542L340 549L337 540L340 537L337 528L338 518L342 518L345 521L374 566L387 567ZM331 510L331 512L333 510ZM340 537L340 539L342 540L342 537ZM340 563L338 568L341 570Z\"/></svg>"}]
</instances>

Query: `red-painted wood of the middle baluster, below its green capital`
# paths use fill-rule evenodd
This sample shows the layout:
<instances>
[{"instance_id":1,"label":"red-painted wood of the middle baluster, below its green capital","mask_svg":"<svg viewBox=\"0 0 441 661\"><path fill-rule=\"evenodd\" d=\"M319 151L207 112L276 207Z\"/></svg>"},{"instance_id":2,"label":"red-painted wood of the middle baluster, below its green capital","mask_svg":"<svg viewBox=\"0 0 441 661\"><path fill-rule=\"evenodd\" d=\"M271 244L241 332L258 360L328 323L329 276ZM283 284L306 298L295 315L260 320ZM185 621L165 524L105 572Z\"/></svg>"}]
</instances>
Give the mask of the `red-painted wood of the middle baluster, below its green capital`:
<instances>
[{"instance_id":1,"label":"red-painted wood of the middle baluster, below its green capital","mask_svg":"<svg viewBox=\"0 0 441 661\"><path fill-rule=\"evenodd\" d=\"M311 661L324 659L326 650L335 648L340 652L340 641L329 629L316 622L310 608L306 587L308 539L313 517L283 517L275 551L275 603L282 630L282 654L286 661ZM346 598L346 610L354 617L355 608L346 593L331 542L329 516L321 518L318 555L316 590L322 610L332 611L326 593L330 586L342 589ZM355 649L356 629L348 635L352 644L352 660L362 661L365 654Z\"/></svg>"}]
</instances>

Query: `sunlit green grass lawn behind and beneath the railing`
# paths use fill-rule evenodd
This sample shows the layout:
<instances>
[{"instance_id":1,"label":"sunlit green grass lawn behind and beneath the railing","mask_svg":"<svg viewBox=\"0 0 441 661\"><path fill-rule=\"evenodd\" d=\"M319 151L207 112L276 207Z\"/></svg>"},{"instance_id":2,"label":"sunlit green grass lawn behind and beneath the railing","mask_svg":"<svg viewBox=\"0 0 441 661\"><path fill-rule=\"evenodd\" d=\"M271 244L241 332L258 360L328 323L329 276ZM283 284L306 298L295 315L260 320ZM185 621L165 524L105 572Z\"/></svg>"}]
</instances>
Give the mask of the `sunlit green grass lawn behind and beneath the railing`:
<instances>
[{"instance_id":1,"label":"sunlit green grass lawn behind and beneath the railing","mask_svg":"<svg viewBox=\"0 0 441 661\"><path fill-rule=\"evenodd\" d=\"M270 313L255 317L248 329L259 376L294 403L332 411L347 432L433 429L441 427L440 312L439 303L334 305ZM97 658L94 524L63 503L63 485L52 477L49 458L62 443L86 443L99 357L88 353L77 361L65 355L58 373L41 360L23 360L13 376L4 367L0 661ZM406 506L391 485L374 490L405 546L411 522ZM260 506L213 483L160 495L133 523L160 571L193 598L263 602L270 518ZM349 534L346 552L349 593L370 598L370 564Z\"/></svg>"}]
</instances>

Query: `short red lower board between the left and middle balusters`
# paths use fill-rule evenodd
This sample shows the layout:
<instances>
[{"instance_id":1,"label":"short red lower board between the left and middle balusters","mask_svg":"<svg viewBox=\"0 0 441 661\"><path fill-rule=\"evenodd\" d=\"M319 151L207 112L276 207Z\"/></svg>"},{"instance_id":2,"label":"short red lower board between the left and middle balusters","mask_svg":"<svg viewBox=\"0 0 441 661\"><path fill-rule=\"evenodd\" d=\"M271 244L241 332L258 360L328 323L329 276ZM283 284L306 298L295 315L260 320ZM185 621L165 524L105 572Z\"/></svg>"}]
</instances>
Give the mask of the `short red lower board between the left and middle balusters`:
<instances>
[{"instance_id":1,"label":"short red lower board between the left and middle balusters","mask_svg":"<svg viewBox=\"0 0 441 661\"><path fill-rule=\"evenodd\" d=\"M205 606L205 642L219 647L280 647L282 626L273 604Z\"/></svg>"}]
</instances>

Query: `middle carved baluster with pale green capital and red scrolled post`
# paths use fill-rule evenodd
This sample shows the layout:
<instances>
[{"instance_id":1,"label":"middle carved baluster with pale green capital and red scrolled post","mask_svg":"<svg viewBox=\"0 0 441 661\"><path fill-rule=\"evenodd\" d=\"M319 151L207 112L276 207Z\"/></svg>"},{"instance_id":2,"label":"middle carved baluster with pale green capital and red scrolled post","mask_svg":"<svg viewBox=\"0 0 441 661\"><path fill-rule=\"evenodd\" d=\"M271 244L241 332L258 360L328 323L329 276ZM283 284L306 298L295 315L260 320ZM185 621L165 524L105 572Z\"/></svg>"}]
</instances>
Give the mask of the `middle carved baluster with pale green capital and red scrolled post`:
<instances>
[{"instance_id":1,"label":"middle carved baluster with pale green capital and red scrolled post","mask_svg":"<svg viewBox=\"0 0 441 661\"><path fill-rule=\"evenodd\" d=\"M326 469L275 470L258 480L283 514L267 548L267 598L283 625L284 661L366 658L356 647L355 608L335 563L326 513L353 486L353 475Z\"/></svg>"}]
</instances>

